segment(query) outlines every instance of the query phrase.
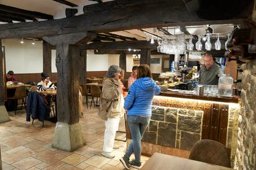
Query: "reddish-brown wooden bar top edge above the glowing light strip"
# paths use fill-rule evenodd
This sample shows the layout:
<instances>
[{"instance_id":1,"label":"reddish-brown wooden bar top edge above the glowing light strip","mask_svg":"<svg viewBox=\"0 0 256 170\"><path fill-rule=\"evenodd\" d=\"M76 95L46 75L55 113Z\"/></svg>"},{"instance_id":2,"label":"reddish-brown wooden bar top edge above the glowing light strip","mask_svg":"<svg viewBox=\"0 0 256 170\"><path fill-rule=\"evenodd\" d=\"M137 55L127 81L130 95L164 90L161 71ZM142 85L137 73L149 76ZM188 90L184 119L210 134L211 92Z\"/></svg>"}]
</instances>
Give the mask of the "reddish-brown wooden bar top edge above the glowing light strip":
<instances>
[{"instance_id":1,"label":"reddish-brown wooden bar top edge above the glowing light strip","mask_svg":"<svg viewBox=\"0 0 256 170\"><path fill-rule=\"evenodd\" d=\"M183 99L195 99L195 100L208 100L213 102L226 102L226 103L238 103L239 97L212 97L212 96L199 96L194 94L181 94L179 92L161 92L160 96L167 96L167 97L178 97Z\"/></svg>"}]
</instances>

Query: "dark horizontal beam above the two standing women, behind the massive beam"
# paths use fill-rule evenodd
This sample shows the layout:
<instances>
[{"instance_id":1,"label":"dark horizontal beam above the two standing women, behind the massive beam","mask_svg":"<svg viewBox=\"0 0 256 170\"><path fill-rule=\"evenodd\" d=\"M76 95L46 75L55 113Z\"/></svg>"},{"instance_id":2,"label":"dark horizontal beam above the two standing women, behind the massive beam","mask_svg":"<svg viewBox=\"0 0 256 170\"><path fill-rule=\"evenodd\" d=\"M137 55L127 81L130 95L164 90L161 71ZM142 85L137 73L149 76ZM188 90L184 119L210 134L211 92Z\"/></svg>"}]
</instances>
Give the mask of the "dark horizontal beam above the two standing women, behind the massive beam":
<instances>
[{"instance_id":1,"label":"dark horizontal beam above the two standing women, behind the massive beam","mask_svg":"<svg viewBox=\"0 0 256 170\"><path fill-rule=\"evenodd\" d=\"M148 41L116 41L116 42L92 42L81 45L81 49L156 49L158 44L150 44Z\"/></svg>"}]
</instances>

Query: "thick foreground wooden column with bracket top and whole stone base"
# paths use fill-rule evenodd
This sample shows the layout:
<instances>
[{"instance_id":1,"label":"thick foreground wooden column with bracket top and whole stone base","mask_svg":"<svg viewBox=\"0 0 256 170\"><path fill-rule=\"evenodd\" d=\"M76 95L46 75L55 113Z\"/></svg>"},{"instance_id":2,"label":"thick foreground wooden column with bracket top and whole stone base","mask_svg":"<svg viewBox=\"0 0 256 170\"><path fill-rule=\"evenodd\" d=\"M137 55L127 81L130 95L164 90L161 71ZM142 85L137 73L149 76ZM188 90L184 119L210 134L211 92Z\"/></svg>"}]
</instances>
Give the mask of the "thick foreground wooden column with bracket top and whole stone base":
<instances>
[{"instance_id":1,"label":"thick foreground wooden column with bracket top and whole stone base","mask_svg":"<svg viewBox=\"0 0 256 170\"><path fill-rule=\"evenodd\" d=\"M46 36L43 39L56 46L58 71L57 107L58 122L52 146L60 150L74 151L85 144L79 124L79 42L90 41L95 36L81 32Z\"/></svg>"}]
</instances>

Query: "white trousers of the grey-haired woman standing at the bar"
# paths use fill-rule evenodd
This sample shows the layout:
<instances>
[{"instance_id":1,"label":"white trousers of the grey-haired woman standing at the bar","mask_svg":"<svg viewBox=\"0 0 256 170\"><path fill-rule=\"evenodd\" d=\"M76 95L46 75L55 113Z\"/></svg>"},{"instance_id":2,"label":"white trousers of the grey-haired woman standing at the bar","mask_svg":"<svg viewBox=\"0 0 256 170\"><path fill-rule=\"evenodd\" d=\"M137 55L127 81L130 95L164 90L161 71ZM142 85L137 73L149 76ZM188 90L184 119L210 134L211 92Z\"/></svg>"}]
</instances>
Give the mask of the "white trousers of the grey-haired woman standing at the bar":
<instances>
[{"instance_id":1,"label":"white trousers of the grey-haired woman standing at the bar","mask_svg":"<svg viewBox=\"0 0 256 170\"><path fill-rule=\"evenodd\" d=\"M105 121L105 134L103 152L112 152L114 147L114 138L116 137L116 131L118 131L120 118L108 118Z\"/></svg>"}]
</instances>

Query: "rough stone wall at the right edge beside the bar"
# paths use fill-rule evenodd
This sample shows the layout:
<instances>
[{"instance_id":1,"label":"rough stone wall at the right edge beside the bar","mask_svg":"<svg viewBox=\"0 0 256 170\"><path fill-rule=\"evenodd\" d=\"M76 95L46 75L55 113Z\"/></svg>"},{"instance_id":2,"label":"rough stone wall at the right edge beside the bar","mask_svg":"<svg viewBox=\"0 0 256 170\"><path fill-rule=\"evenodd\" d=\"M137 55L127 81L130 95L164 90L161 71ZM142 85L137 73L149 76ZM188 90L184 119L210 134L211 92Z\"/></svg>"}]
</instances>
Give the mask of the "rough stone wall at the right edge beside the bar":
<instances>
[{"instance_id":1,"label":"rough stone wall at the right edge beside the bar","mask_svg":"<svg viewBox=\"0 0 256 170\"><path fill-rule=\"evenodd\" d=\"M242 109L234 169L256 169L256 60L242 65Z\"/></svg>"}]
</instances>

